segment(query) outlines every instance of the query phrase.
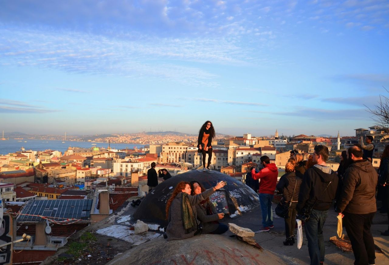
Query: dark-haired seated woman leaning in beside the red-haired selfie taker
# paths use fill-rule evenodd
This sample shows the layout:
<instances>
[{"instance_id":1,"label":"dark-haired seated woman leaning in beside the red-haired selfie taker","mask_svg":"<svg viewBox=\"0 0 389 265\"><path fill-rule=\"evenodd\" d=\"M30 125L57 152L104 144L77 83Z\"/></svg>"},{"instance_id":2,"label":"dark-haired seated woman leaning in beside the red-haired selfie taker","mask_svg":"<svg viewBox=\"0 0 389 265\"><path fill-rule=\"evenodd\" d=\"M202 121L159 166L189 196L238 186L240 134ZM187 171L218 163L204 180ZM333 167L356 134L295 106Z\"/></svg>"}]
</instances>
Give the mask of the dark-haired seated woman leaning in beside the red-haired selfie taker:
<instances>
[{"instance_id":1,"label":"dark-haired seated woman leaning in beside the red-haired selfie taker","mask_svg":"<svg viewBox=\"0 0 389 265\"><path fill-rule=\"evenodd\" d=\"M199 195L205 191L202 184L197 181L191 182L191 195ZM217 220L223 219L224 213L217 213L215 205L207 198L196 205L197 219L203 225L203 233L222 234L228 230L228 226L219 223Z\"/></svg>"}]
</instances>

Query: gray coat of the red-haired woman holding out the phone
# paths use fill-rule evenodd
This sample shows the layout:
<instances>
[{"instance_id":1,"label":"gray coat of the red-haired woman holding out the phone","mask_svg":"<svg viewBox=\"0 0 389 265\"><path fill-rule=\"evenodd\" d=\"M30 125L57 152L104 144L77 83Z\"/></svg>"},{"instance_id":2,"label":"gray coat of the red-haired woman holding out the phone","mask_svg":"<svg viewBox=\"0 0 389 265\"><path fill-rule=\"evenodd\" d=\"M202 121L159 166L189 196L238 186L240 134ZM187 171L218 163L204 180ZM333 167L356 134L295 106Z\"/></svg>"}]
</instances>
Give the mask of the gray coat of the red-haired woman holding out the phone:
<instances>
[{"instance_id":1,"label":"gray coat of the red-haired woman holding out the phone","mask_svg":"<svg viewBox=\"0 0 389 265\"><path fill-rule=\"evenodd\" d=\"M188 195L190 204L192 205L193 213L197 219L196 205L201 201L206 200L209 196L214 193L214 189L210 188L203 193L200 193L195 196ZM168 241L177 240L177 239L186 239L193 237L196 231L186 234L184 225L182 224L182 212L181 212L181 198L182 192L177 194L173 199L172 204L170 204L169 215L168 215L168 226L166 228L166 235L168 236Z\"/></svg>"}]
</instances>

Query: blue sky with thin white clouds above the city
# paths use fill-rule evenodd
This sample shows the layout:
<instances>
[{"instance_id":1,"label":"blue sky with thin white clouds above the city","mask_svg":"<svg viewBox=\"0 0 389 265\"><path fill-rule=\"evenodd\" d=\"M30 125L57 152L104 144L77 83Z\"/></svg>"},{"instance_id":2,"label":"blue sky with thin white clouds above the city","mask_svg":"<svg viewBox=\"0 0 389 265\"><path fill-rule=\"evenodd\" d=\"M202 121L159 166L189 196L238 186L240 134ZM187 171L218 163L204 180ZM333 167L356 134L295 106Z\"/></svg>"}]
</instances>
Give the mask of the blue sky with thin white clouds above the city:
<instances>
[{"instance_id":1,"label":"blue sky with thin white clouds above the city","mask_svg":"<svg viewBox=\"0 0 389 265\"><path fill-rule=\"evenodd\" d=\"M387 0L0 6L5 133L346 136L388 96Z\"/></svg>"}]
</instances>

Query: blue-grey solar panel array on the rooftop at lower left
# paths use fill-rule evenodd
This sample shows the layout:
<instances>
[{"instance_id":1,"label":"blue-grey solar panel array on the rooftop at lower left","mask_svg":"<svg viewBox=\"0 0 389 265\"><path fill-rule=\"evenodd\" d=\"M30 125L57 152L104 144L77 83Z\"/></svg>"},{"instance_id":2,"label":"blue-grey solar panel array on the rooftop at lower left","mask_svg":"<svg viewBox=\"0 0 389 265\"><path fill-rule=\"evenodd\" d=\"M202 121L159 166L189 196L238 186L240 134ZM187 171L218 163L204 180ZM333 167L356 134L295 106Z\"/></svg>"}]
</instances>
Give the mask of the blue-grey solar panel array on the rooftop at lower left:
<instances>
[{"instance_id":1,"label":"blue-grey solar panel array on the rooftop at lower left","mask_svg":"<svg viewBox=\"0 0 389 265\"><path fill-rule=\"evenodd\" d=\"M27 216L24 214L47 216L49 219L63 221L59 218L75 218L87 220L91 214L92 199L73 200L29 200L18 216L18 222L38 222L43 219L39 216ZM54 218L54 217L59 217Z\"/></svg>"}]
</instances>

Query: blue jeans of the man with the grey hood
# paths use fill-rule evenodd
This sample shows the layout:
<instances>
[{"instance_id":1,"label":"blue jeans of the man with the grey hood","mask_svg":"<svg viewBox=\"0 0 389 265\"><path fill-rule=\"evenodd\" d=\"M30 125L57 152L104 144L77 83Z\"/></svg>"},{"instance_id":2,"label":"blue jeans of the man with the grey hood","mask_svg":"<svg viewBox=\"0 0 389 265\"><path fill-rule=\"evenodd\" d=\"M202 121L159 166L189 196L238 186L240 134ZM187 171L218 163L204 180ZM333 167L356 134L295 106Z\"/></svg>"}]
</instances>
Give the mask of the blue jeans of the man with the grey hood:
<instances>
[{"instance_id":1,"label":"blue jeans of the man with the grey hood","mask_svg":"<svg viewBox=\"0 0 389 265\"><path fill-rule=\"evenodd\" d=\"M311 259L311 265L319 265L324 262L324 238L323 225L327 219L327 211L318 211L312 209L310 218L305 223L305 235L308 239L308 251Z\"/></svg>"}]
</instances>

